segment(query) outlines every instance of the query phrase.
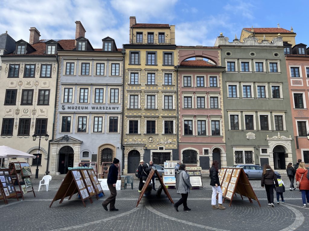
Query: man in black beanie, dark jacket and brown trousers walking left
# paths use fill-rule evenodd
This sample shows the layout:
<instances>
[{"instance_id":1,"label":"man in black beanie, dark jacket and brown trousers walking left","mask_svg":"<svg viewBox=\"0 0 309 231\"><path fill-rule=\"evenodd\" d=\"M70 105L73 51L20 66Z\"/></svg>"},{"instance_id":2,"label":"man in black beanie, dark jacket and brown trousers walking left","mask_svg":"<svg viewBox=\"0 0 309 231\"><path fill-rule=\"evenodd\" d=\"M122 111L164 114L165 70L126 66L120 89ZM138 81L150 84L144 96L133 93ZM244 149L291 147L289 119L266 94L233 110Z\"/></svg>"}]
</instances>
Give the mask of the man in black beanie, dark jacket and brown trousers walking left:
<instances>
[{"instance_id":1,"label":"man in black beanie, dark jacket and brown trousers walking left","mask_svg":"<svg viewBox=\"0 0 309 231\"><path fill-rule=\"evenodd\" d=\"M119 166L119 160L117 158L114 158L113 163L111 166L109 166L108 169L108 176L107 176L107 186L109 191L111 192L111 195L102 202L103 208L107 211L107 205L109 204L109 211L118 211L119 209L115 208L115 202L116 202L116 182L117 182L117 176L118 176L118 166Z\"/></svg>"}]
</instances>

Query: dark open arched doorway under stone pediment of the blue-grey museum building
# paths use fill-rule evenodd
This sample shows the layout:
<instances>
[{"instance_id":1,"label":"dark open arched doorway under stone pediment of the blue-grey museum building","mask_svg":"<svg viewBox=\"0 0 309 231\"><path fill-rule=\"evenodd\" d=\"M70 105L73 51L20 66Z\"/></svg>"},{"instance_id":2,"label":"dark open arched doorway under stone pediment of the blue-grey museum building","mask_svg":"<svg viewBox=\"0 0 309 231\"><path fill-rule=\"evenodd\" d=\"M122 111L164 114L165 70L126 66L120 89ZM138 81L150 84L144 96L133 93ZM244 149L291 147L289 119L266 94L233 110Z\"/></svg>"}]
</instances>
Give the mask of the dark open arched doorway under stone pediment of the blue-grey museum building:
<instances>
[{"instance_id":1,"label":"dark open arched doorway under stone pediment of the blue-grey museum building","mask_svg":"<svg viewBox=\"0 0 309 231\"><path fill-rule=\"evenodd\" d=\"M70 146L63 146L59 150L58 172L66 174L69 167L73 167L74 150Z\"/></svg>"}]
</instances>

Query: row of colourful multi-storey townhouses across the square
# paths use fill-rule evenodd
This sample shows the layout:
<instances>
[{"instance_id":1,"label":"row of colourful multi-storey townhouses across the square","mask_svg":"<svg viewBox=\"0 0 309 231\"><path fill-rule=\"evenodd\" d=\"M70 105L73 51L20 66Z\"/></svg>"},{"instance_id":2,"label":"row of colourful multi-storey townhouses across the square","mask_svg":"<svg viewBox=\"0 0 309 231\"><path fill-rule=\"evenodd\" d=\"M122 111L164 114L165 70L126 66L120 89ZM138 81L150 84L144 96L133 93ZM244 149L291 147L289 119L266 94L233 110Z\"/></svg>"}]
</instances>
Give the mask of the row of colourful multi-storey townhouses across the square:
<instances>
[{"instance_id":1,"label":"row of colourful multi-storey townhouses across the square","mask_svg":"<svg viewBox=\"0 0 309 231\"><path fill-rule=\"evenodd\" d=\"M1 145L28 152L40 174L81 162L140 159L188 166L309 165L309 48L293 28L243 28L214 47L179 46L175 26L137 23L129 43L93 48L76 21L75 39L29 42L0 35ZM48 132L49 140L32 136ZM102 166L103 163L103 166Z\"/></svg>"}]
</instances>

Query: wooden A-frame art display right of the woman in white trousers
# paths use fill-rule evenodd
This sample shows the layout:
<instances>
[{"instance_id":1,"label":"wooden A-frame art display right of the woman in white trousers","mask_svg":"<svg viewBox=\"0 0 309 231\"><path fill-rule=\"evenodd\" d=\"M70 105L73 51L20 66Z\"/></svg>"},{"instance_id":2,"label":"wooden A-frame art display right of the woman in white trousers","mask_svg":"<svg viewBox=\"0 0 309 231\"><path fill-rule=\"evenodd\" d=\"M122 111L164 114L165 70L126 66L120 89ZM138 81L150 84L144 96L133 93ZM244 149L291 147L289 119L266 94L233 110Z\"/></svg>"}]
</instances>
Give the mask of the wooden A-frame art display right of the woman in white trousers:
<instances>
[{"instance_id":1,"label":"wooden A-frame art display right of the woman in white trousers","mask_svg":"<svg viewBox=\"0 0 309 231\"><path fill-rule=\"evenodd\" d=\"M224 175L223 172L225 172ZM222 195L224 197L223 202L225 201L225 199L230 200L229 204L230 207L234 196L236 196L235 193L238 193L241 199L243 199L243 196L248 197L250 203L253 203L252 199L256 200L259 206L261 207L260 202L256 197L256 194L254 193L253 188L249 182L249 179L242 168L223 168L223 172L222 172L222 178L223 178L222 192L224 188L224 193Z\"/></svg>"}]
</instances>

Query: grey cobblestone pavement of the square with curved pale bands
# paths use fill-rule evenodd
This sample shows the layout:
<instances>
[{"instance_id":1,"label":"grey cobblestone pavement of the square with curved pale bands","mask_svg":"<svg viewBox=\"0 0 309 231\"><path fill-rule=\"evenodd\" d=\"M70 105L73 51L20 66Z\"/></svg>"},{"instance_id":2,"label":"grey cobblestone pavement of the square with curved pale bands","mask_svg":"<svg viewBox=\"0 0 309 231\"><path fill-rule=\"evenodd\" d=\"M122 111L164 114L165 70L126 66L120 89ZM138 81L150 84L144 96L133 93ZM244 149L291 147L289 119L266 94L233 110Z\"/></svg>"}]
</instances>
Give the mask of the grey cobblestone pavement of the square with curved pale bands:
<instances>
[{"instance_id":1,"label":"grey cobblestone pavement of the square with curved pale bands","mask_svg":"<svg viewBox=\"0 0 309 231\"><path fill-rule=\"evenodd\" d=\"M289 180L283 177L288 185ZM135 180L133 190L117 191L117 212L105 211L101 203L109 195L91 204L86 201L86 208L75 196L59 204L55 201L49 205L61 184L60 177L54 177L50 190L37 192L39 180L32 180L36 189L33 193L25 194L24 201L9 199L9 204L0 201L0 231L15 230L309 230L309 206L302 207L301 193L298 190L284 193L286 203L275 204L272 208L267 205L265 189L260 187L260 180L250 180L260 201L251 204L248 198L236 197L231 207L228 202L226 210L211 209L211 193L209 178L203 178L204 188L192 190L188 196L188 207L191 211L183 211L182 205L177 213L171 202L162 194L161 198L153 196L143 198L136 207L138 200L138 180ZM156 186L158 188L158 186ZM287 186L287 189L289 187ZM180 196L175 189L168 189L173 201ZM276 194L275 194L276 196ZM276 199L275 199L276 200Z\"/></svg>"}]
</instances>

